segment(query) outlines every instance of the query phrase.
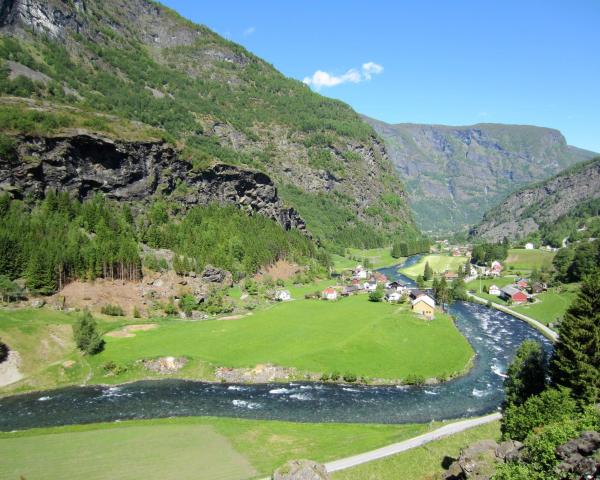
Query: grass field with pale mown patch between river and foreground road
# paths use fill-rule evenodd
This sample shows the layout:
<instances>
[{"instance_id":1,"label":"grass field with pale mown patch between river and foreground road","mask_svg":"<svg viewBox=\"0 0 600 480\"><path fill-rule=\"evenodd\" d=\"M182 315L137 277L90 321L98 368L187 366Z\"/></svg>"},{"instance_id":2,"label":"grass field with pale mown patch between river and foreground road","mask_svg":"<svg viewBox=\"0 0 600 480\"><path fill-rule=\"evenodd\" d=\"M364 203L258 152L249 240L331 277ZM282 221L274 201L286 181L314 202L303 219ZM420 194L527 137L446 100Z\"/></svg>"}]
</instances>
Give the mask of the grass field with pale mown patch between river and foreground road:
<instances>
[{"instance_id":1,"label":"grass field with pale mown patch between river and foreground road","mask_svg":"<svg viewBox=\"0 0 600 480\"><path fill-rule=\"evenodd\" d=\"M326 462L372 450L430 427L194 417L0 433L0 479L240 480L295 458Z\"/></svg>"}]
</instances>

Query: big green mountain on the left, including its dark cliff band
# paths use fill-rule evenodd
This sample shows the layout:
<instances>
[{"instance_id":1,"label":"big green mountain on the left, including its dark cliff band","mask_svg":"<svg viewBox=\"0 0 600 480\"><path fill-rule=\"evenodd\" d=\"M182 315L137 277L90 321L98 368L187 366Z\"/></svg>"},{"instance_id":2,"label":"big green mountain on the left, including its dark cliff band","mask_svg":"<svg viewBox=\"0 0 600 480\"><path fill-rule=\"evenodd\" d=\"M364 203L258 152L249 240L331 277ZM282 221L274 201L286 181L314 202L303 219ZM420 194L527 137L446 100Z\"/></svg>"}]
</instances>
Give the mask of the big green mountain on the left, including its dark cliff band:
<instances>
[{"instance_id":1,"label":"big green mountain on the left, including its dark cliff band","mask_svg":"<svg viewBox=\"0 0 600 480\"><path fill-rule=\"evenodd\" d=\"M383 142L348 105L160 4L2 0L0 60L13 196L63 184L138 201L182 184L188 204L268 212L332 248L420 235ZM273 208L246 195L250 178Z\"/></svg>"}]
</instances>

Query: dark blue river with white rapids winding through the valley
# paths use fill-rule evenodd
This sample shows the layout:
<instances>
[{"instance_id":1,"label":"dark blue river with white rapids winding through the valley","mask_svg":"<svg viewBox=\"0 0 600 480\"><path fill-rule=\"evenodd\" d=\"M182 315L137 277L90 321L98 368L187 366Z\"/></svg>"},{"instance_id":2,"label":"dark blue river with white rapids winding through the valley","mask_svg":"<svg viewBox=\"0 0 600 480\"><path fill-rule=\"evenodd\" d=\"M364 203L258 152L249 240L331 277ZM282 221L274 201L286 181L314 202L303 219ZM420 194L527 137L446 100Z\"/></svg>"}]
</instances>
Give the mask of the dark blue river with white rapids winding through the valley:
<instances>
[{"instance_id":1,"label":"dark blue river with white rapids winding through the valley","mask_svg":"<svg viewBox=\"0 0 600 480\"><path fill-rule=\"evenodd\" d=\"M405 265L418 261L410 257ZM397 273L390 279L414 283ZM473 303L450 307L476 352L473 368L439 385L359 386L320 383L263 385L154 380L116 387L85 386L0 399L0 430L174 416L227 416L298 422L415 423L469 417L499 408L506 366L537 330L508 314Z\"/></svg>"}]
</instances>

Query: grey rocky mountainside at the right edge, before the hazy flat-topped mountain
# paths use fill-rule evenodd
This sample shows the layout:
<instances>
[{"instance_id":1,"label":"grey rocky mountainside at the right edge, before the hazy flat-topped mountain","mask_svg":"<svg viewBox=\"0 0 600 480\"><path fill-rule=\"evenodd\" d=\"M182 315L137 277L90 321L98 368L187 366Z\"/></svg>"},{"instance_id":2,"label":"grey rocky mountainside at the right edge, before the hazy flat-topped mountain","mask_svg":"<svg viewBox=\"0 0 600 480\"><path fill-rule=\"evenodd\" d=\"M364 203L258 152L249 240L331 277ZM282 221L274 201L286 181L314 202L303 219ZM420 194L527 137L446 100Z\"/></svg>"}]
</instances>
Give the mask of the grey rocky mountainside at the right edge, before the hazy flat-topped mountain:
<instances>
[{"instance_id":1,"label":"grey rocky mountainside at the right edge, before the hazy flat-topped mountain","mask_svg":"<svg viewBox=\"0 0 600 480\"><path fill-rule=\"evenodd\" d=\"M483 221L473 228L471 234L497 242L504 237L525 238L540 229L558 231L568 217L584 219L598 216L598 199L600 157L509 195L485 214ZM560 242L555 240L549 243Z\"/></svg>"}]
</instances>

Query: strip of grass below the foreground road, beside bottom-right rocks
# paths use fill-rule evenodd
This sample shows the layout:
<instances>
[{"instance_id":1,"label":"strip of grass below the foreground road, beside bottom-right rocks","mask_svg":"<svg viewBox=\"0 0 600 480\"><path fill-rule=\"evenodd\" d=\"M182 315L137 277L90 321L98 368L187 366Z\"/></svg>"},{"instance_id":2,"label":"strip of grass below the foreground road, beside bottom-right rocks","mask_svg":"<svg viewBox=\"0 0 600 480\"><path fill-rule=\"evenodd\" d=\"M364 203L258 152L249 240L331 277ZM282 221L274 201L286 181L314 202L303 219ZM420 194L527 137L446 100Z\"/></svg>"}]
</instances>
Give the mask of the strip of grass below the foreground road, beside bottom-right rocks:
<instances>
[{"instance_id":1,"label":"strip of grass below the foreground road, beside bottom-right rocks","mask_svg":"<svg viewBox=\"0 0 600 480\"><path fill-rule=\"evenodd\" d=\"M382 460L365 463L332 475L333 480L438 480L445 471L444 457L457 458L460 450L478 440L500 437L499 422L457 433Z\"/></svg>"}]
</instances>

